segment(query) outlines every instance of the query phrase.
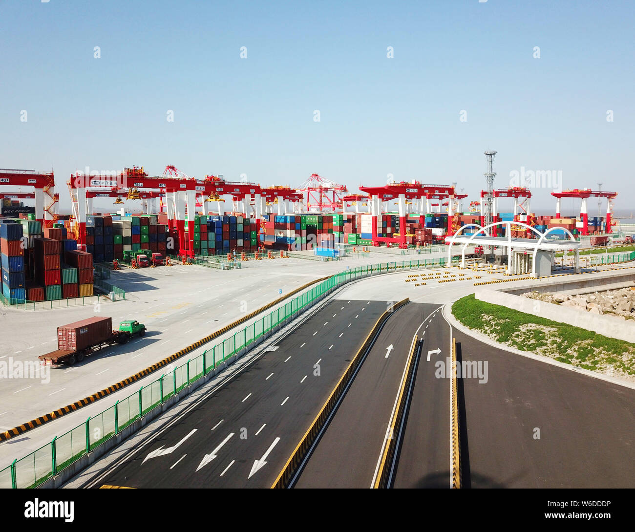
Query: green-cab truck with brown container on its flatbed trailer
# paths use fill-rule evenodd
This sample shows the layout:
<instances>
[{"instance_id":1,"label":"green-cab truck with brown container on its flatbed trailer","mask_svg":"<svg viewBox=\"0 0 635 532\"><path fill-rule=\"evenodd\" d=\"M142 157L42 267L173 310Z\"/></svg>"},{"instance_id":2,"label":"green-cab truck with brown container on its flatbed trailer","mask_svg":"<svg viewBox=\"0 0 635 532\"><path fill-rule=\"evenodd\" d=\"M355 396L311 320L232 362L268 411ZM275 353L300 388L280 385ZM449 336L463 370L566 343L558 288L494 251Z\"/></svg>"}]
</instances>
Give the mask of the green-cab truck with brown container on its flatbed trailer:
<instances>
[{"instance_id":1,"label":"green-cab truck with brown container on its flatbed trailer","mask_svg":"<svg viewBox=\"0 0 635 532\"><path fill-rule=\"evenodd\" d=\"M134 335L143 336L145 325L137 320L126 320L119 329L112 330L112 318L90 317L57 328L57 350L40 355L42 364L53 368L83 361L96 350L114 343L126 343Z\"/></svg>"}]
</instances>

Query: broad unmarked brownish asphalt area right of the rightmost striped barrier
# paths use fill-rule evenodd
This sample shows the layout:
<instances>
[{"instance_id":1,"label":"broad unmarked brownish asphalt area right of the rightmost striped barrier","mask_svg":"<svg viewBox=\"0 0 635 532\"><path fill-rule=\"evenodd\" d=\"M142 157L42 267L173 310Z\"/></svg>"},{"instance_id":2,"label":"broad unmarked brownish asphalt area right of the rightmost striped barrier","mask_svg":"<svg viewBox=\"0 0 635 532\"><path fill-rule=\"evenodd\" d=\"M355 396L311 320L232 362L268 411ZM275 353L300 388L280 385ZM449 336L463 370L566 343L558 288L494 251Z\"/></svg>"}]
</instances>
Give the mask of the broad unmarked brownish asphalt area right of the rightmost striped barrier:
<instances>
[{"instance_id":1,"label":"broad unmarked brownish asphalt area right of the rightmost striped barrier","mask_svg":"<svg viewBox=\"0 0 635 532\"><path fill-rule=\"evenodd\" d=\"M635 390L455 336L488 362L486 383L463 380L465 487L634 486Z\"/></svg>"}]
</instances>

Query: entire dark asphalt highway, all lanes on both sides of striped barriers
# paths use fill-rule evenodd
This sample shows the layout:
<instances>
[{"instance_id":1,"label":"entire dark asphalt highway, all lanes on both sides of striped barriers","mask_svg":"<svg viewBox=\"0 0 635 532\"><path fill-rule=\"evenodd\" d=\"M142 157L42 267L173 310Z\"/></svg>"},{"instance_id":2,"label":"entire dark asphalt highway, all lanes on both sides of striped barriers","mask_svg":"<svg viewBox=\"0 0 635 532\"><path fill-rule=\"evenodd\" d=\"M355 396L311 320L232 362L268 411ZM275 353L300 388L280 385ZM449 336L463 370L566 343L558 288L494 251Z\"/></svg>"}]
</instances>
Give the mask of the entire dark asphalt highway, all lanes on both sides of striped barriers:
<instances>
[{"instance_id":1,"label":"entire dark asphalt highway, all lanes on both sides of striped barriers","mask_svg":"<svg viewBox=\"0 0 635 532\"><path fill-rule=\"evenodd\" d=\"M321 303L206 385L203 399L168 411L70 486L271 486L386 310L382 295L394 279L361 281ZM632 484L635 390L480 342L450 328L441 302L412 299L380 329L295 487L369 488L392 436L392 487L449 488L453 337L458 365L472 370L458 380L462 486ZM408 404L401 430L389 435L415 335L423 343Z\"/></svg>"}]
</instances>

